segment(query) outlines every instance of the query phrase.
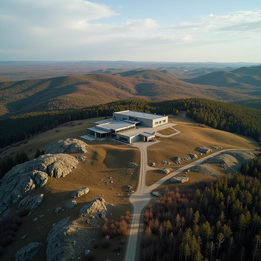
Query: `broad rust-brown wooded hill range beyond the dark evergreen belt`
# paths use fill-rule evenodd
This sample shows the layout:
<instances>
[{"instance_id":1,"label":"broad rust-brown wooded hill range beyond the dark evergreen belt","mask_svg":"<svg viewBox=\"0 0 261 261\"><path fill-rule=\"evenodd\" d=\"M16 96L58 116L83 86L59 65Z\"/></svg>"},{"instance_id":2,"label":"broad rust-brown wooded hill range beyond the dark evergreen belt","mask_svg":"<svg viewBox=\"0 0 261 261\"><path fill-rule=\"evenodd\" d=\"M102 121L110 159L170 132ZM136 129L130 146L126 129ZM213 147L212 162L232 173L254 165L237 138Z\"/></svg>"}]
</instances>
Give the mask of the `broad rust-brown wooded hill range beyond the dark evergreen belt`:
<instances>
[{"instance_id":1,"label":"broad rust-brown wooded hill range beyond the dark evergreen belt","mask_svg":"<svg viewBox=\"0 0 261 261\"><path fill-rule=\"evenodd\" d=\"M6 81L0 83L0 115L79 109L130 98L159 101L189 97L225 101L258 98L258 95L247 93L251 91L251 88L240 92L225 87L195 85L157 70Z\"/></svg>"}]
</instances>

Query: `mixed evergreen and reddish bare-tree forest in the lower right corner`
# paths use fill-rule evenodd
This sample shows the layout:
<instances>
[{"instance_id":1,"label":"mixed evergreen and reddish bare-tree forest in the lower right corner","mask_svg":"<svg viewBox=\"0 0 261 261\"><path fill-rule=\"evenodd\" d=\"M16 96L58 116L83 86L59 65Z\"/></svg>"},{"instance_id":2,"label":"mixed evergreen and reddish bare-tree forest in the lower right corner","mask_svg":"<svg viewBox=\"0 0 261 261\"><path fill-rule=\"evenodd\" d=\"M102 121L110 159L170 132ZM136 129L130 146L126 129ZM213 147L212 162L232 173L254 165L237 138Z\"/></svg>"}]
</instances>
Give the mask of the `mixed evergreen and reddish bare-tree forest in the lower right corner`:
<instances>
[{"instance_id":1,"label":"mixed evergreen and reddish bare-tree forest in the lower right corner","mask_svg":"<svg viewBox=\"0 0 261 261\"><path fill-rule=\"evenodd\" d=\"M165 190L144 223L144 261L261 260L260 180L235 173Z\"/></svg>"}]
</instances>

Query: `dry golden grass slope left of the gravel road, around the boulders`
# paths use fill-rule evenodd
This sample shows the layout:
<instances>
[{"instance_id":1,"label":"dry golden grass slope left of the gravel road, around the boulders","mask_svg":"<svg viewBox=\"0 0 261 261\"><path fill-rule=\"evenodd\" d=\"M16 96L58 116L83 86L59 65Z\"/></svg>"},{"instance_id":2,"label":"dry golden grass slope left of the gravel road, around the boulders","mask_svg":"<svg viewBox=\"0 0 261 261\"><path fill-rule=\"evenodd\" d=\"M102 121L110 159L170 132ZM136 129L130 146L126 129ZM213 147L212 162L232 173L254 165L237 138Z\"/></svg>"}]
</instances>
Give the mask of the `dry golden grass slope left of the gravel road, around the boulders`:
<instances>
[{"instance_id":1,"label":"dry golden grass slope left of the gravel road, around the boulders","mask_svg":"<svg viewBox=\"0 0 261 261\"><path fill-rule=\"evenodd\" d=\"M30 152L30 148L33 148L33 151L30 154L30 157L32 157L37 146L42 148L55 140L77 138L77 135L81 134L89 123L91 123L91 120L84 121L84 124L79 126L58 127L57 129L59 129L60 132L55 132L54 129L43 133L38 137L31 139L28 143L21 145L22 150ZM39 143L37 142L38 140ZM75 220L78 218L80 208L95 198L102 197L107 203L116 205L116 207L111 211L112 215L108 212L107 218L109 221L111 219L117 220L127 210L131 210L131 205L127 196L130 189L128 189L127 186L132 185L132 189L136 189L139 168L128 168L127 163L132 161L140 165L140 151L137 148L131 148L109 140L102 142L84 141L91 146L88 147L89 152L85 154L88 162L79 162L77 168L73 169L73 171L66 177L58 179L49 177L45 186L42 188L35 188L30 196L43 193L43 201L30 216L23 218L24 224L16 233L14 243L5 248L5 254L1 257L1 260L14 259L16 251L31 242L43 242L43 247L41 247L41 250L32 260L45 261L47 247L45 241L52 228L52 224L59 222L62 218L67 216L70 216L70 221ZM71 155L79 156L82 154ZM110 179L110 177L112 177L112 179ZM104 183L103 181L100 181L101 179L104 179L104 181L112 180L113 183ZM76 207L71 210L60 211L57 214L54 213L56 207L63 207L69 200L71 200L70 195L76 189L85 186L88 187L90 191L87 195L75 199L78 204ZM12 213L17 210L17 205L18 204L11 207ZM43 218L33 222L35 217L43 214ZM100 222L100 225L103 225L103 221ZM93 233L97 234L97 236L94 237L94 242L97 241L97 239L99 242L101 241L101 235L99 234L100 228L94 228L85 221L81 222L81 226L90 229ZM26 234L26 238L21 239L21 237ZM126 241L126 236L123 236L123 238ZM113 251L115 246L119 245L118 241L119 237L115 237L111 239L111 246L105 251L101 247L94 250L97 254L96 260L104 261L108 258L118 261L123 260L124 247L119 252ZM92 246L86 245L86 249L92 249ZM117 255L118 253L120 253L119 256ZM82 254L82 256L83 255L84 254Z\"/></svg>"}]
</instances>

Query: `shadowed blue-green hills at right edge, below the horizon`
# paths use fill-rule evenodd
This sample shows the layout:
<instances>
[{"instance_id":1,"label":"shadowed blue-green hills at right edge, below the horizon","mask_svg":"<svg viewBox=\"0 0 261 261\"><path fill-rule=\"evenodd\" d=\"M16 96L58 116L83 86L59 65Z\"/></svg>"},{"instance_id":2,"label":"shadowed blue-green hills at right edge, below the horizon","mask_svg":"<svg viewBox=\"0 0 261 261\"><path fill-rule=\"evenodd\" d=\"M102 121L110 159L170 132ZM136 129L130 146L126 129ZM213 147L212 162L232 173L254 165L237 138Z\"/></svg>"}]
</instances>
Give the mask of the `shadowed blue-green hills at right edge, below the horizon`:
<instances>
[{"instance_id":1,"label":"shadowed blue-green hills at right edge, below the horizon","mask_svg":"<svg viewBox=\"0 0 261 261\"><path fill-rule=\"evenodd\" d=\"M193 84L224 86L233 88L252 88L253 86L261 87L260 75L260 66L252 66L241 67L231 72L212 72L199 76L197 78L183 80ZM258 95L261 94L261 88L255 88L255 91L260 92Z\"/></svg>"}]
</instances>

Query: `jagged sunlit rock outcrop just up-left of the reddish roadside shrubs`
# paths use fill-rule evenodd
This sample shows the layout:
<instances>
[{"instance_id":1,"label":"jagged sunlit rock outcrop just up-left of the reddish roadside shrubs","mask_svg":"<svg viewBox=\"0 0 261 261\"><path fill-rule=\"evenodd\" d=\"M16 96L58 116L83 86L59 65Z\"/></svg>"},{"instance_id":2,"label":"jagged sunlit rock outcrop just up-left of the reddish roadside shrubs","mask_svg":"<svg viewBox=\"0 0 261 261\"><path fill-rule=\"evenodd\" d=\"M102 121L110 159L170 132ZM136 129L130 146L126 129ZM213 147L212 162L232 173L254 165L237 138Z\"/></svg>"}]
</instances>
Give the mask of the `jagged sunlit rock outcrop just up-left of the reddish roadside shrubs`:
<instances>
[{"instance_id":1,"label":"jagged sunlit rock outcrop just up-left of the reddish roadside shrubs","mask_svg":"<svg viewBox=\"0 0 261 261\"><path fill-rule=\"evenodd\" d=\"M98 216L105 218L107 211L107 204L103 198L96 198L90 203L83 206L79 212L79 217Z\"/></svg>"}]
</instances>

